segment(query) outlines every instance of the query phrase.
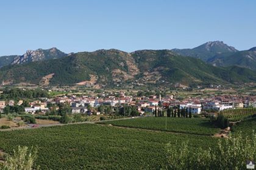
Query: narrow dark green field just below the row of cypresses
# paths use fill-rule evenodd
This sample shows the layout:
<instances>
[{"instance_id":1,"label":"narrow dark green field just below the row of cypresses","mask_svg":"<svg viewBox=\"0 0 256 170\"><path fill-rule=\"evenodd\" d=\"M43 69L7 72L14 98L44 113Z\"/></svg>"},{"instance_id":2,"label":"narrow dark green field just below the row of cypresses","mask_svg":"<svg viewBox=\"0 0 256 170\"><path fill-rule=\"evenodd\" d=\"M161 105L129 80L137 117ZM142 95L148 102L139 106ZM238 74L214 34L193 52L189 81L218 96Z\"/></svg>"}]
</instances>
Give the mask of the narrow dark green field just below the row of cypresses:
<instances>
[{"instance_id":1,"label":"narrow dark green field just below the row of cypresses","mask_svg":"<svg viewBox=\"0 0 256 170\"><path fill-rule=\"evenodd\" d=\"M104 121L101 123L198 135L213 135L219 132L218 127L215 127L208 119L204 118L145 117Z\"/></svg>"}]
</instances>

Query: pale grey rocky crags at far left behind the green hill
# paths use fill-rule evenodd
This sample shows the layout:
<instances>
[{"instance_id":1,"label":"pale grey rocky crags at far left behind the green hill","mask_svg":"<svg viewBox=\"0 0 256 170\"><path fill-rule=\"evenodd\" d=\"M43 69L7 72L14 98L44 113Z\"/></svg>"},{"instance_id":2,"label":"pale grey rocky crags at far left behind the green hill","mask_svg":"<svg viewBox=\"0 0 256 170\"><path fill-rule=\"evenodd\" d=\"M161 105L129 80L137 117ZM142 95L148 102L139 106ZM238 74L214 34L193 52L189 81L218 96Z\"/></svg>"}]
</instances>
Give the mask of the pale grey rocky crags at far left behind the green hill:
<instances>
[{"instance_id":1,"label":"pale grey rocky crags at far left behind the green hill","mask_svg":"<svg viewBox=\"0 0 256 170\"><path fill-rule=\"evenodd\" d=\"M9 64L23 64L34 61L43 61L50 60L55 58L62 58L66 56L66 53L63 53L55 47L51 49L37 49L37 50L27 50L24 55L11 55L11 56L0 56L0 67L7 66Z\"/></svg>"}]
</instances>

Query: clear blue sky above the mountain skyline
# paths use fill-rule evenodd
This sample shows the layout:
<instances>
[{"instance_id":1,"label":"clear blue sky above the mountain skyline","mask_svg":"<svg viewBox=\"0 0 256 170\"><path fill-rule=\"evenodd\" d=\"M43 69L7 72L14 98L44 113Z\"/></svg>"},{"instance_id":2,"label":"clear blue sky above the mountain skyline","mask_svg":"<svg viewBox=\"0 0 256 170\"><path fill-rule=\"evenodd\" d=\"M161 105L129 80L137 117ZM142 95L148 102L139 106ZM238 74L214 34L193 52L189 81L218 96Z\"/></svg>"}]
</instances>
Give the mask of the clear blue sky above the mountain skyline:
<instances>
[{"instance_id":1,"label":"clear blue sky above the mountain skyline","mask_svg":"<svg viewBox=\"0 0 256 170\"><path fill-rule=\"evenodd\" d=\"M256 1L0 1L0 56L51 47L192 48L215 40L239 50L256 46Z\"/></svg>"}]
</instances>

